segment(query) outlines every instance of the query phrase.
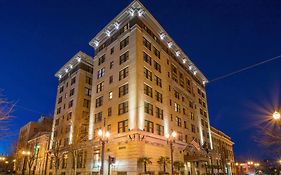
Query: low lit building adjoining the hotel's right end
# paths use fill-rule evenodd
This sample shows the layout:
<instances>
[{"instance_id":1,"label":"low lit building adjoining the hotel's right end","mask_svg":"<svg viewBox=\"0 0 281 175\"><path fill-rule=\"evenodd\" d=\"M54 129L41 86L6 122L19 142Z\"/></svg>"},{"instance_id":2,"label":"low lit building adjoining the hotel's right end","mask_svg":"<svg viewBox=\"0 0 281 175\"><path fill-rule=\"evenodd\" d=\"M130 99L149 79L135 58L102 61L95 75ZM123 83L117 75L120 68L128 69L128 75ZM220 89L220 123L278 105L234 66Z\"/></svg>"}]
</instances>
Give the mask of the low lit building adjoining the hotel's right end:
<instances>
[{"instance_id":1,"label":"low lit building adjoining the hotel's right end","mask_svg":"<svg viewBox=\"0 0 281 175\"><path fill-rule=\"evenodd\" d=\"M235 174L235 162L233 154L234 142L222 131L211 127L213 150L212 150L212 169L215 173Z\"/></svg>"}]
</instances>

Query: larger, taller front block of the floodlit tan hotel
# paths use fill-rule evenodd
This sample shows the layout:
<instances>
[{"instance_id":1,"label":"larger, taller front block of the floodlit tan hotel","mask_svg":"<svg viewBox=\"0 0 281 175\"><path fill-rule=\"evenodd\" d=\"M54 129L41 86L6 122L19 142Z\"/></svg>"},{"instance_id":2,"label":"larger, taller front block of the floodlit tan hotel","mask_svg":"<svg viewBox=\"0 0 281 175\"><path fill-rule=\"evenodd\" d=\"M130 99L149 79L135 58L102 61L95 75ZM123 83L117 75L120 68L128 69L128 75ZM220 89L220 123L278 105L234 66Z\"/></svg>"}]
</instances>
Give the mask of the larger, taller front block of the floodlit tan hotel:
<instances>
[{"instance_id":1,"label":"larger, taller front block of the floodlit tan hotel","mask_svg":"<svg viewBox=\"0 0 281 175\"><path fill-rule=\"evenodd\" d=\"M152 158L150 172L161 172L157 161L160 156L170 157L165 135L171 131L177 132L174 160L185 165L180 171L205 173L207 160L184 159L184 149L192 140L212 148L207 79L150 12L133 1L90 45L95 49L89 120L89 140L94 144L87 151L86 171L99 172L97 131L103 129L110 132L104 174L108 156L116 158L112 175L143 173L138 162L143 156Z\"/></svg>"}]
</instances>

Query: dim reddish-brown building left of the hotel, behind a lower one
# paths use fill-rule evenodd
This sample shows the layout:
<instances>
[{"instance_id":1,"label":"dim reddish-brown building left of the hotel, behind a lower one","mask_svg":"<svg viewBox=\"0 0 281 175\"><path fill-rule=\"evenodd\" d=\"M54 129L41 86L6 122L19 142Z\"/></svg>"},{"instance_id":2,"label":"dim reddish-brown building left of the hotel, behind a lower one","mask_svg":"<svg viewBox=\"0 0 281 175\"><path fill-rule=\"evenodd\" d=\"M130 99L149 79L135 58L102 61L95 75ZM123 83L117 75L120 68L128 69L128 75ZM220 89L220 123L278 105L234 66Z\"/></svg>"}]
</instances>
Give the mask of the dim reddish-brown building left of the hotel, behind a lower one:
<instances>
[{"instance_id":1,"label":"dim reddish-brown building left of the hotel, behind a lower one","mask_svg":"<svg viewBox=\"0 0 281 175\"><path fill-rule=\"evenodd\" d=\"M16 157L16 171L21 173L24 165L24 156L22 151L31 151L29 140L36 137L38 133L51 132L53 119L47 116L41 116L37 122L29 122L20 129L19 138L17 142Z\"/></svg>"}]
</instances>

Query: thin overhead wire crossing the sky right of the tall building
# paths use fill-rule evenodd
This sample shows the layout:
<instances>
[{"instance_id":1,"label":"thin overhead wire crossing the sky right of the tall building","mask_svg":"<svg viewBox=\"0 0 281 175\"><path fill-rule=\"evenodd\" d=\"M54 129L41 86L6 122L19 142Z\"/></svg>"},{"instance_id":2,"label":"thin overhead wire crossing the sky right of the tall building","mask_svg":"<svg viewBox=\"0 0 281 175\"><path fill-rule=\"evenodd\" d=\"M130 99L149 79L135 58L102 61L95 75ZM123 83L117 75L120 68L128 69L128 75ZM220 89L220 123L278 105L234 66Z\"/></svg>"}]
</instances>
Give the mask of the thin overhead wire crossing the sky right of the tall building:
<instances>
[{"instance_id":1,"label":"thin overhead wire crossing the sky right of the tall building","mask_svg":"<svg viewBox=\"0 0 281 175\"><path fill-rule=\"evenodd\" d=\"M230 72L230 73L228 73L228 74L219 76L219 77L217 77L217 78L214 78L214 79L210 80L209 83L212 83L212 82L215 82L215 81L218 81L218 80L222 80L222 79L228 78L228 77L230 77L230 76L233 76L233 75L236 75L236 74L238 74L238 73L244 72L244 71L246 71L246 70L255 68L255 67L260 66L260 65L262 65L262 64L265 64L265 63L268 63L268 62L277 60L277 59L279 59L279 58L281 58L281 55L278 55L278 56L276 56L276 57L273 57L273 58L270 58L270 59L267 59L267 60L264 60L264 61L261 61L261 62L252 64L252 65L250 65L250 66L244 67L244 68L239 69L239 70L236 70L236 71L234 71L234 72Z\"/></svg>"}]
</instances>

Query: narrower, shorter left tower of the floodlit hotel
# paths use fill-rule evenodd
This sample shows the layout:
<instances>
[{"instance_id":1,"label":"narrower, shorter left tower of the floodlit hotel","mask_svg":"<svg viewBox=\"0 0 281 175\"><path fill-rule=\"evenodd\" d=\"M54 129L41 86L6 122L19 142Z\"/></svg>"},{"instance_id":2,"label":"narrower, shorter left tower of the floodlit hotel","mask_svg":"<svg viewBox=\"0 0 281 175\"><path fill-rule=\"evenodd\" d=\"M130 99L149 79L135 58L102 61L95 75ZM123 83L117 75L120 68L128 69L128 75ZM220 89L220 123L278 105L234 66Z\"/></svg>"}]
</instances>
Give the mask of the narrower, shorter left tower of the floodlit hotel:
<instances>
[{"instance_id":1,"label":"narrower, shorter left tower of the floodlit hotel","mask_svg":"<svg viewBox=\"0 0 281 175\"><path fill-rule=\"evenodd\" d=\"M81 172L85 166L86 152L82 148L88 140L92 75L93 59L81 51L55 74L59 84L50 141L49 174L56 174L55 171L70 174L76 168ZM77 161L75 169L73 160Z\"/></svg>"}]
</instances>

